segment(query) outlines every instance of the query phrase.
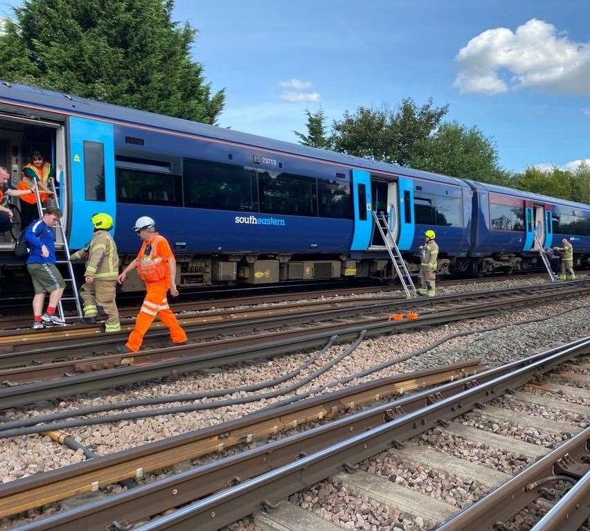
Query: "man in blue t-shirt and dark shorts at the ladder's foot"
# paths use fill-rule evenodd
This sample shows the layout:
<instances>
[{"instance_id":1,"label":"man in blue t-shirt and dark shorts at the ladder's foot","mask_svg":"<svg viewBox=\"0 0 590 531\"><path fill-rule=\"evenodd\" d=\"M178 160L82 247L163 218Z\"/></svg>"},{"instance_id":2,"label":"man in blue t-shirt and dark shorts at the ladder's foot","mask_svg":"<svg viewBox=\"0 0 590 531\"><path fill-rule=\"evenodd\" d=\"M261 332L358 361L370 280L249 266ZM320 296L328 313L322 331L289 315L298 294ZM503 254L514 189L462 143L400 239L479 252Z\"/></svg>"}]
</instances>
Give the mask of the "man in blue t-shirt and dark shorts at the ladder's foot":
<instances>
[{"instance_id":1,"label":"man in blue t-shirt and dark shorts at the ladder's foot","mask_svg":"<svg viewBox=\"0 0 590 531\"><path fill-rule=\"evenodd\" d=\"M41 219L30 224L24 233L30 249L26 269L33 280L35 297L33 297L33 328L64 326L66 323L55 315L55 308L60 302L66 284L60 271L55 267L55 243L51 227L57 225L62 217L59 208L46 208ZM45 294L49 294L49 304L44 314Z\"/></svg>"}]
</instances>

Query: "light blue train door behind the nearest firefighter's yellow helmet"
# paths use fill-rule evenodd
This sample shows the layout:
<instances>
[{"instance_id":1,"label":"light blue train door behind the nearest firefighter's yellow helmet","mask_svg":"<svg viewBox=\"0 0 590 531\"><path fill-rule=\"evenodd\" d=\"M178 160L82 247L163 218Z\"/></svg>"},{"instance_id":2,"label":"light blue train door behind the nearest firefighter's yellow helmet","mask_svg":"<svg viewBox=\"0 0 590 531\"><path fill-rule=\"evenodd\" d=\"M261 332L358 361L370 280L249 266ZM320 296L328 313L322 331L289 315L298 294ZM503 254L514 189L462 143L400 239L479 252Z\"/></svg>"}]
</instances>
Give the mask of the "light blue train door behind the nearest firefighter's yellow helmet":
<instances>
[{"instance_id":1,"label":"light blue train door behind the nearest firefighter's yellow helmet","mask_svg":"<svg viewBox=\"0 0 590 531\"><path fill-rule=\"evenodd\" d=\"M72 212L70 247L90 240L90 218L104 212L116 219L113 125L69 118Z\"/></svg>"}]
</instances>

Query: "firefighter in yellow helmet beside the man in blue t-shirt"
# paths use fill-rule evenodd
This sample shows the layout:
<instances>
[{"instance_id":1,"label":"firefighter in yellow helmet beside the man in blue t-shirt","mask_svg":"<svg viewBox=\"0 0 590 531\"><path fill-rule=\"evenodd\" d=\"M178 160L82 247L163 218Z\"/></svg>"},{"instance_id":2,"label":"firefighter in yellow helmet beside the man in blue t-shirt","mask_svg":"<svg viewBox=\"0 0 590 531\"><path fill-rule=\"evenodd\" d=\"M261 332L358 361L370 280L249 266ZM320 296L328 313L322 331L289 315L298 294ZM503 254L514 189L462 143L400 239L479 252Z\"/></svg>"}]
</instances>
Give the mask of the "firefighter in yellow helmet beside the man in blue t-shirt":
<instances>
[{"instance_id":1,"label":"firefighter in yellow helmet beside the man in blue t-shirt","mask_svg":"<svg viewBox=\"0 0 590 531\"><path fill-rule=\"evenodd\" d=\"M108 214L98 213L90 221L94 227L91 242L71 255L71 260L86 260L84 284L80 288L80 297L84 303L84 322L91 325L96 323L99 305L107 314L105 332L119 332L121 325L115 303L119 257L117 246L109 233L113 228L113 218Z\"/></svg>"}]
</instances>

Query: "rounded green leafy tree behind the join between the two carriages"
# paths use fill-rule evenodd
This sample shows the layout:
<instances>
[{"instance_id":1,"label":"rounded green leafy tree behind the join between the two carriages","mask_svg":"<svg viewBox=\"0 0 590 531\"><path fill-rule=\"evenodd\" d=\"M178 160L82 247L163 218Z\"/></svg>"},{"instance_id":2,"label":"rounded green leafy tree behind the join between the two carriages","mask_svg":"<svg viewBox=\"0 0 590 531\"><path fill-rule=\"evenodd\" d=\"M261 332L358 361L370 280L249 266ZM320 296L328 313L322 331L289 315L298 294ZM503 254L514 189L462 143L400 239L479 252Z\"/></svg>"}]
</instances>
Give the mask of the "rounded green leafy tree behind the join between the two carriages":
<instances>
[{"instance_id":1,"label":"rounded green leafy tree behind the join between the two carriages","mask_svg":"<svg viewBox=\"0 0 590 531\"><path fill-rule=\"evenodd\" d=\"M512 186L512 176L501 170L498 149L478 127L442 123L435 134L418 142L409 165L459 179Z\"/></svg>"}]
</instances>

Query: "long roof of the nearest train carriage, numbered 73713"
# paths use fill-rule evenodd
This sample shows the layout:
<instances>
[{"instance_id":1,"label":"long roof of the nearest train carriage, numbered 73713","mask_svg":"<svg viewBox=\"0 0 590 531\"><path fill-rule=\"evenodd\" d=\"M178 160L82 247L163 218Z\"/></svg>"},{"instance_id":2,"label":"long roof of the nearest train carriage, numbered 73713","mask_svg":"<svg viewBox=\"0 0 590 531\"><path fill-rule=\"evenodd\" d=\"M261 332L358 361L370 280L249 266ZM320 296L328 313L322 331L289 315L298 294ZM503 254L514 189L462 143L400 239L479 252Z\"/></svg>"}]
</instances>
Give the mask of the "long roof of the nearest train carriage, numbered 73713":
<instances>
[{"instance_id":1,"label":"long roof of the nearest train carriage, numbered 73713","mask_svg":"<svg viewBox=\"0 0 590 531\"><path fill-rule=\"evenodd\" d=\"M468 188L462 179L456 179L447 175L414 170L406 166L370 161L358 156L278 141L255 134L242 133L225 127L217 127L215 125L184 120L183 118L173 118L172 116L163 114L139 111L138 109L121 107L120 105L80 98L80 96L74 96L73 94L37 89L28 85L0 82L0 102L42 107L58 114L98 118L120 125L154 127L163 131L192 134L204 138L213 138L215 140L258 147L261 150L305 156L310 159L329 161L334 164L346 165L376 173L403 175Z\"/></svg>"}]
</instances>

